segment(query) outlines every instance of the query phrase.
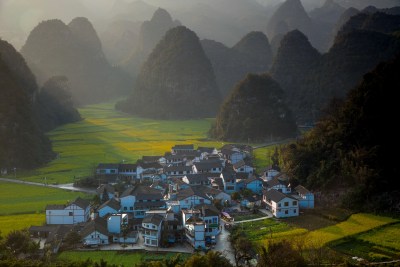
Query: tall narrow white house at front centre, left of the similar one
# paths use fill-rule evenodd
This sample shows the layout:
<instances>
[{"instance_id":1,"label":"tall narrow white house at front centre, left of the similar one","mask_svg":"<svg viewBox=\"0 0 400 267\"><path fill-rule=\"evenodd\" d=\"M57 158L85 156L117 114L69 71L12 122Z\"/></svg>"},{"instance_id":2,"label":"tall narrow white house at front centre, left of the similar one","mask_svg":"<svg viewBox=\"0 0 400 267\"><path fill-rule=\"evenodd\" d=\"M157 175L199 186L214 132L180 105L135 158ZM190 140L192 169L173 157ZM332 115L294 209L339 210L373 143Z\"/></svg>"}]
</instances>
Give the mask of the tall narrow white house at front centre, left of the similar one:
<instances>
[{"instance_id":1,"label":"tall narrow white house at front centre, left of the similar one","mask_svg":"<svg viewBox=\"0 0 400 267\"><path fill-rule=\"evenodd\" d=\"M146 246L160 246L163 221L164 217L159 214L148 214L143 218L143 239Z\"/></svg>"}]
</instances>

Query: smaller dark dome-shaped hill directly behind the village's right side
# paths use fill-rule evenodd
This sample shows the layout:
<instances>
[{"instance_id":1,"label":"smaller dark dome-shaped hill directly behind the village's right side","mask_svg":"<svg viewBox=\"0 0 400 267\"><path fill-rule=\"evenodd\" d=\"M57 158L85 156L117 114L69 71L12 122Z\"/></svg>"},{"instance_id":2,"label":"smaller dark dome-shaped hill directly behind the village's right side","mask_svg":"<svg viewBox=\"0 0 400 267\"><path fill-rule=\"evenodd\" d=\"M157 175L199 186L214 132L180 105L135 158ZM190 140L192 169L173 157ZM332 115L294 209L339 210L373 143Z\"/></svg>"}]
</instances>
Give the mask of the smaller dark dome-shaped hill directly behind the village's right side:
<instances>
[{"instance_id":1,"label":"smaller dark dome-shaped hill directly behind the village's right side","mask_svg":"<svg viewBox=\"0 0 400 267\"><path fill-rule=\"evenodd\" d=\"M249 74L222 104L210 135L228 141L262 142L293 137L296 129L279 84L268 74Z\"/></svg>"}]
</instances>

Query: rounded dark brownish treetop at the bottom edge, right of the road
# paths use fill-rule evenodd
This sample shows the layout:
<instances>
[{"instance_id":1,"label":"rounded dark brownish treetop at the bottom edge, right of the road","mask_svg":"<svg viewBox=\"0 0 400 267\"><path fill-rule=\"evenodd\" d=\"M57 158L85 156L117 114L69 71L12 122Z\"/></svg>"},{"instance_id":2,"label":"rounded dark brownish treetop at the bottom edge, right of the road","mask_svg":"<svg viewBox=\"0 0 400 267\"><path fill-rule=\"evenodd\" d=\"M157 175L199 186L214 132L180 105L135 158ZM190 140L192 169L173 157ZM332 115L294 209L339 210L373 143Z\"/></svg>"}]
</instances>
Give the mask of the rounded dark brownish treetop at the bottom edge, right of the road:
<instances>
[{"instance_id":1,"label":"rounded dark brownish treetop at the bottom edge, right of the road","mask_svg":"<svg viewBox=\"0 0 400 267\"><path fill-rule=\"evenodd\" d=\"M301 267L306 266L304 258L287 240L269 242L261 247L257 267Z\"/></svg>"}]
</instances>

